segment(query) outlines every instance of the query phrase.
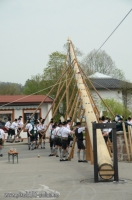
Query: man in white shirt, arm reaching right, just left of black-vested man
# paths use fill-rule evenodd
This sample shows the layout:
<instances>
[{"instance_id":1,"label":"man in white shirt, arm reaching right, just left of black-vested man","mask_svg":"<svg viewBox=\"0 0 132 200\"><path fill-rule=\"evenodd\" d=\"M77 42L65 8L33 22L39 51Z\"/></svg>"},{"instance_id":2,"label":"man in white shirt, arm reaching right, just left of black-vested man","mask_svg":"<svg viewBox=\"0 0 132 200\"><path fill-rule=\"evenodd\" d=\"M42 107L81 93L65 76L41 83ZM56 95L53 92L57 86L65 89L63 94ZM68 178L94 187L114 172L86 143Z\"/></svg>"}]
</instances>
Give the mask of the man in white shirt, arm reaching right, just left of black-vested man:
<instances>
[{"instance_id":1,"label":"man in white shirt, arm reaching right, just left of black-vested man","mask_svg":"<svg viewBox=\"0 0 132 200\"><path fill-rule=\"evenodd\" d=\"M63 128L61 129L62 136L62 153L60 157L60 161L68 161L68 135L74 134L74 131L71 131L67 128L67 122L63 122ZM63 155L66 153L66 159L63 160Z\"/></svg>"}]
</instances>

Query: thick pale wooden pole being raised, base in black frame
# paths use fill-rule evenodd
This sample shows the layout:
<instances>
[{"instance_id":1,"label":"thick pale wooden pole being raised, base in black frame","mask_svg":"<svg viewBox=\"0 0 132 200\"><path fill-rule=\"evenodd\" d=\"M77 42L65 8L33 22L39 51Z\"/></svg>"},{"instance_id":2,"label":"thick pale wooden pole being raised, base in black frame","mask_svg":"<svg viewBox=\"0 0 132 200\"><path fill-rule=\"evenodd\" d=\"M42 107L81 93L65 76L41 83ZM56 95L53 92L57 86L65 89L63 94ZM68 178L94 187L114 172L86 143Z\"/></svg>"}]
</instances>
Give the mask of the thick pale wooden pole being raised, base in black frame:
<instances>
[{"instance_id":1,"label":"thick pale wooden pole being raised, base in black frame","mask_svg":"<svg viewBox=\"0 0 132 200\"><path fill-rule=\"evenodd\" d=\"M77 82L78 89L81 91L81 98L83 100L83 108L85 109L85 116L86 116L86 124L87 128L90 134L90 140L91 140L91 145L93 147L93 129L92 129L92 122L97 122L97 117L94 113L93 107L91 105L90 99L87 95L87 90L86 86L83 83L82 75L80 73L80 69L78 66L78 61L74 52L74 48L72 45L71 40L69 42L69 47L70 47L70 60L72 62L72 65L74 67L74 75L75 79ZM106 147L104 138L102 136L101 130L97 129L97 148L98 148L98 166L99 169L101 170L106 169L106 170L112 170L113 169L113 163L110 158L108 149Z\"/></svg>"}]
</instances>

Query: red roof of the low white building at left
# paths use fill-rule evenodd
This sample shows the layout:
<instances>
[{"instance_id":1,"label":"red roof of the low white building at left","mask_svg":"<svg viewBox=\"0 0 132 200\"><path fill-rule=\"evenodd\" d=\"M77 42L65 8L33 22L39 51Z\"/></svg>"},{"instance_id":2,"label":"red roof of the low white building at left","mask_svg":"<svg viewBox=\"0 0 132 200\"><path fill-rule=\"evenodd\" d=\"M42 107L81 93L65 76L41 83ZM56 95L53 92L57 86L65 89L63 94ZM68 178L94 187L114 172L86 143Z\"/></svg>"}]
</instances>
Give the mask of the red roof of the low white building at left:
<instances>
[{"instance_id":1,"label":"red roof of the low white building at left","mask_svg":"<svg viewBox=\"0 0 132 200\"><path fill-rule=\"evenodd\" d=\"M0 104L3 103L41 103L46 95L0 95ZM53 99L48 97L45 103L52 103Z\"/></svg>"}]
</instances>

